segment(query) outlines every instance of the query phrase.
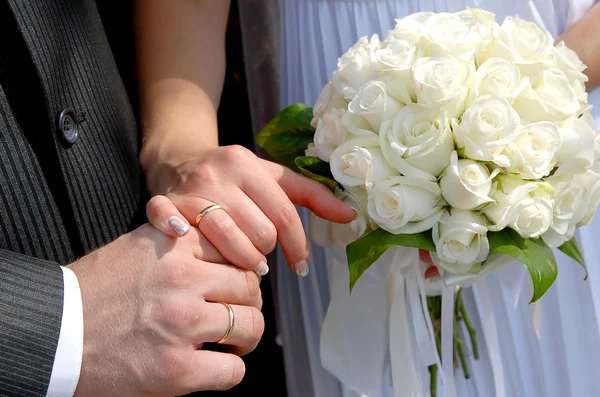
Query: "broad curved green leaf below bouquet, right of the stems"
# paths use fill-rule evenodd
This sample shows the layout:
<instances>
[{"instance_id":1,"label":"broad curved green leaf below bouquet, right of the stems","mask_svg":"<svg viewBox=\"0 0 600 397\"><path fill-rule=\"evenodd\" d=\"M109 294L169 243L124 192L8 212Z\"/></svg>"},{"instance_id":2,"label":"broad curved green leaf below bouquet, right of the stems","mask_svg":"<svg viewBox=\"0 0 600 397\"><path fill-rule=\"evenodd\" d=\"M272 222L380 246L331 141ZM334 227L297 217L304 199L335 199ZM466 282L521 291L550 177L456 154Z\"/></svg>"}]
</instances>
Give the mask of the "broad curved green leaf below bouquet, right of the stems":
<instances>
[{"instance_id":1,"label":"broad curved green leaf below bouquet, right of the stems","mask_svg":"<svg viewBox=\"0 0 600 397\"><path fill-rule=\"evenodd\" d=\"M552 249L541 238L523 238L512 229L488 233L491 252L512 256L529 270L533 282L533 303L540 299L558 276L558 267Z\"/></svg>"}]
</instances>

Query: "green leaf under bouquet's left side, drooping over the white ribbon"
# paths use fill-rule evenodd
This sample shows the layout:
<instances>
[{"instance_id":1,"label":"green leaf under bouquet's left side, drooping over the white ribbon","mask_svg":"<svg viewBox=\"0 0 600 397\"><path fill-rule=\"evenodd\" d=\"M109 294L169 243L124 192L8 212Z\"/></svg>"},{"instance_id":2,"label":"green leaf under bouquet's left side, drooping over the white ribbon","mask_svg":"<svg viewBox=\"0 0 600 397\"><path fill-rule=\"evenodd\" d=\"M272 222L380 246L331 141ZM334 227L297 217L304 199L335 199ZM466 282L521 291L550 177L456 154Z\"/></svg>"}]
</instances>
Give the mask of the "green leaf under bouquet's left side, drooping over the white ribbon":
<instances>
[{"instance_id":1,"label":"green leaf under bouquet's left side, drooping over the white ribbon","mask_svg":"<svg viewBox=\"0 0 600 397\"><path fill-rule=\"evenodd\" d=\"M350 270L350 293L354 285L381 255L392 247L412 247L426 251L435 251L431 231L417 234L392 234L377 229L348 244L348 269Z\"/></svg>"}]
</instances>

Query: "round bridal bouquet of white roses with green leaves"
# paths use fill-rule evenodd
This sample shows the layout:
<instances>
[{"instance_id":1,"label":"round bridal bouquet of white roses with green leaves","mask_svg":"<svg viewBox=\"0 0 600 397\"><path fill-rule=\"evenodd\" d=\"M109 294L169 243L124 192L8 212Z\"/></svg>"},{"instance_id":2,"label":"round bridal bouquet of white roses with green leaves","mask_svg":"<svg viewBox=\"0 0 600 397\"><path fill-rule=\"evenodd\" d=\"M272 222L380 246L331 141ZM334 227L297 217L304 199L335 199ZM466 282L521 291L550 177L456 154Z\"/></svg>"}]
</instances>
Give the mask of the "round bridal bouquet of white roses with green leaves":
<instances>
[{"instance_id":1,"label":"round bridal bouquet of white roses with green leaves","mask_svg":"<svg viewBox=\"0 0 600 397\"><path fill-rule=\"evenodd\" d=\"M532 22L417 13L361 38L314 108L284 109L257 143L358 211L334 228L350 290L408 246L432 253L445 285L516 259L536 301L558 274L553 247L585 267L573 236L600 200L584 69Z\"/></svg>"}]
</instances>

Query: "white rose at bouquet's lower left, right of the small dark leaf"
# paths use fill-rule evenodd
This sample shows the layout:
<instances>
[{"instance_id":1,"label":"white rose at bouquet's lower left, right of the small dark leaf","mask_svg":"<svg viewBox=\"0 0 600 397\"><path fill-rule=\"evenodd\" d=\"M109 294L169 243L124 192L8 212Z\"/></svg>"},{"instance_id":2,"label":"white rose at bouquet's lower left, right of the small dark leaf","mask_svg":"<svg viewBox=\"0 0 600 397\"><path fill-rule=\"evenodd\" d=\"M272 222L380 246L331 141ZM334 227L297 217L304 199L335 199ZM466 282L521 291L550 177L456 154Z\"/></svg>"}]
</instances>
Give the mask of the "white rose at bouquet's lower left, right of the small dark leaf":
<instances>
[{"instance_id":1,"label":"white rose at bouquet's lower left, right of the small dark leaf","mask_svg":"<svg viewBox=\"0 0 600 397\"><path fill-rule=\"evenodd\" d=\"M342 186L365 186L398 175L398 171L385 161L381 148L367 146L369 144L368 140L352 139L331 154L331 173Z\"/></svg>"}]
</instances>

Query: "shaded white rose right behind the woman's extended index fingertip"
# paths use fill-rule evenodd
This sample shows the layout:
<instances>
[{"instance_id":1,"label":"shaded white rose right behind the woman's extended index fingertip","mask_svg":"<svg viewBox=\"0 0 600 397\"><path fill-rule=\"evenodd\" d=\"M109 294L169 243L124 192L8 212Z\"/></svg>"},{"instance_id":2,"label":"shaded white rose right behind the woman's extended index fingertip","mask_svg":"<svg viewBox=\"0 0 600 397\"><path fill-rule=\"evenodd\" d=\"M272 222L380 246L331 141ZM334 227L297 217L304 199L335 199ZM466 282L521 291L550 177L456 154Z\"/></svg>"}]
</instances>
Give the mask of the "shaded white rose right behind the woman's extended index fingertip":
<instances>
[{"instance_id":1,"label":"shaded white rose right behind the woman's extended index fingertip","mask_svg":"<svg viewBox=\"0 0 600 397\"><path fill-rule=\"evenodd\" d=\"M356 241L370 230L367 214L367 192L364 188L355 187L338 190L335 194L346 205L354 208L358 213L356 219L350 223L331 223L333 241L342 249Z\"/></svg>"}]
</instances>

